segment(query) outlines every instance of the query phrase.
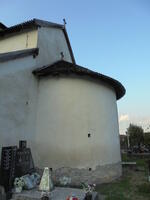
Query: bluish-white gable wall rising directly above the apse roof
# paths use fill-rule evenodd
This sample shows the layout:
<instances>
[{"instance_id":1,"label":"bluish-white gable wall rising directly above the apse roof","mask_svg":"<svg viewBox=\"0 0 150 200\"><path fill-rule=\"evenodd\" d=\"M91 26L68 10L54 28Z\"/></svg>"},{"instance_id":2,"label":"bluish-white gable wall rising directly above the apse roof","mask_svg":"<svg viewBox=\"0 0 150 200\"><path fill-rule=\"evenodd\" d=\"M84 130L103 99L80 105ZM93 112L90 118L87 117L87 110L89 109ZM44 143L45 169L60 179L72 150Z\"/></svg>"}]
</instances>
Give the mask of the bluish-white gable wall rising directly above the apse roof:
<instances>
[{"instance_id":1,"label":"bluish-white gable wall rising directly above the apse roof","mask_svg":"<svg viewBox=\"0 0 150 200\"><path fill-rule=\"evenodd\" d=\"M61 52L64 60L72 62L69 48L62 29L41 27L38 29L39 56L37 57L37 67L50 65L61 60Z\"/></svg>"}]
</instances>

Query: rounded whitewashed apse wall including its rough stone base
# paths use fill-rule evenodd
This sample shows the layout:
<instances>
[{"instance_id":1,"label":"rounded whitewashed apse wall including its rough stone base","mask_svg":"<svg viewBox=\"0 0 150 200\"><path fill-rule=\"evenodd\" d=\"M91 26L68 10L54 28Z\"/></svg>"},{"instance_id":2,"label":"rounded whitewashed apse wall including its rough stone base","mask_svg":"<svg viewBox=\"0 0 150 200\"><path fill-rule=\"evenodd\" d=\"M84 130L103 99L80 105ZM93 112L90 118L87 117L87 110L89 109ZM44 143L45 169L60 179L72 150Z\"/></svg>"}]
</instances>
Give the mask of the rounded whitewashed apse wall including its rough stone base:
<instances>
[{"instance_id":1,"label":"rounded whitewashed apse wall including its rough stone base","mask_svg":"<svg viewBox=\"0 0 150 200\"><path fill-rule=\"evenodd\" d=\"M37 166L71 176L73 184L110 181L121 174L116 93L77 76L39 79ZM91 178L92 177L92 178Z\"/></svg>"}]
</instances>

